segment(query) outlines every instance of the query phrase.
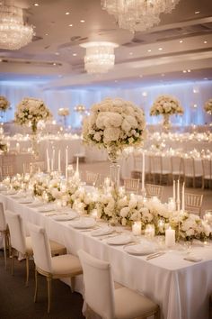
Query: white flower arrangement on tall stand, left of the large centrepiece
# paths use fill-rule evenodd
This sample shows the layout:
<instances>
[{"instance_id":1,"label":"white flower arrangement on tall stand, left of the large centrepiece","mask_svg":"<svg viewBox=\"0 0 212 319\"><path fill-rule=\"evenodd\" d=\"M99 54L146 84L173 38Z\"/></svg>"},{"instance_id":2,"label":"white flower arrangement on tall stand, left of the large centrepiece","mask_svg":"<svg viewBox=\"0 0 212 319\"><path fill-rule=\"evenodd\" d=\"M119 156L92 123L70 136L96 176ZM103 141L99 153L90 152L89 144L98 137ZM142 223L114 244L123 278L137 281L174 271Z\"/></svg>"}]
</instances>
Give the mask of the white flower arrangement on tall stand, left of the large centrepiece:
<instances>
[{"instance_id":1,"label":"white flower arrangement on tall stand, left of the large centrepiece","mask_svg":"<svg viewBox=\"0 0 212 319\"><path fill-rule=\"evenodd\" d=\"M51 117L49 108L40 99L25 97L17 105L14 114L15 122L20 125L31 125L32 132L37 132L37 126L40 121L47 121Z\"/></svg>"}]
</instances>

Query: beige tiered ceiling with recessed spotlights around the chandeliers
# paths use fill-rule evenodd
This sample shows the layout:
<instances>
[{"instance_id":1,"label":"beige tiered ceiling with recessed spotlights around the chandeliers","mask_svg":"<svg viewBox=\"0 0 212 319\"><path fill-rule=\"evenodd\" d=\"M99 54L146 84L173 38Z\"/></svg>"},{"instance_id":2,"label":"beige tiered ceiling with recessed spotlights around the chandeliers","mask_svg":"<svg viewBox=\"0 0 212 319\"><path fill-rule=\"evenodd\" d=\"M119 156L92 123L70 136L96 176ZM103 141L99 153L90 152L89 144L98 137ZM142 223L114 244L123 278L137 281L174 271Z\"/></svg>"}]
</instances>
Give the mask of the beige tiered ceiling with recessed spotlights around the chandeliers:
<instances>
[{"instance_id":1,"label":"beige tiered ceiling with recessed spotlights around the chandeliers","mask_svg":"<svg viewBox=\"0 0 212 319\"><path fill-rule=\"evenodd\" d=\"M0 50L0 83L27 80L48 89L212 80L211 0L181 0L172 14L161 14L158 26L135 34L119 29L114 17L102 10L101 0L14 3L24 8L35 36L21 50ZM119 43L110 72L85 73L80 44L86 41Z\"/></svg>"}]
</instances>

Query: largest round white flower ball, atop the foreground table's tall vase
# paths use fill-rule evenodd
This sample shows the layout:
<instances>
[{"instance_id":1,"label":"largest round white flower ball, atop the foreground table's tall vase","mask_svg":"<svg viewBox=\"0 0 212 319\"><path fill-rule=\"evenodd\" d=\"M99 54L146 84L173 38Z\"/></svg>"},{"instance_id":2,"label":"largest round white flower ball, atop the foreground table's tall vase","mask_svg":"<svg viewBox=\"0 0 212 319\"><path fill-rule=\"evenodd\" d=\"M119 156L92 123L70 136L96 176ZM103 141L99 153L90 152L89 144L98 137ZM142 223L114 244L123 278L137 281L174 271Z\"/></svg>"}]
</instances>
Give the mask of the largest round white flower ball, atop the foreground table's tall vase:
<instances>
[{"instance_id":1,"label":"largest round white flower ball, atop the foreground table's tall vase","mask_svg":"<svg viewBox=\"0 0 212 319\"><path fill-rule=\"evenodd\" d=\"M128 146L140 146L145 128L142 109L120 98L106 98L93 105L91 114L84 119L83 139L87 144L123 150Z\"/></svg>"}]
</instances>

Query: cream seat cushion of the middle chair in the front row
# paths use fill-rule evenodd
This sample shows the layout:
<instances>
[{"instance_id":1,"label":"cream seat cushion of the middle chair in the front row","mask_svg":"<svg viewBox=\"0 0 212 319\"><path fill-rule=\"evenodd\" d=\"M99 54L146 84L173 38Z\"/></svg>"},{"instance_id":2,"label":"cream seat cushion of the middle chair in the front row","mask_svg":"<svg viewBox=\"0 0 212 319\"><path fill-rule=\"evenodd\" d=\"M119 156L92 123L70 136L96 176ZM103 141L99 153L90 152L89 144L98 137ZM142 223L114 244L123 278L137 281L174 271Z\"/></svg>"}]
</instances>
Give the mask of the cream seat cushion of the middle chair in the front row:
<instances>
[{"instance_id":1,"label":"cream seat cushion of the middle chair in the front row","mask_svg":"<svg viewBox=\"0 0 212 319\"><path fill-rule=\"evenodd\" d=\"M75 275L77 273L83 272L78 257L70 254L52 257L51 264L53 275Z\"/></svg>"}]
</instances>

